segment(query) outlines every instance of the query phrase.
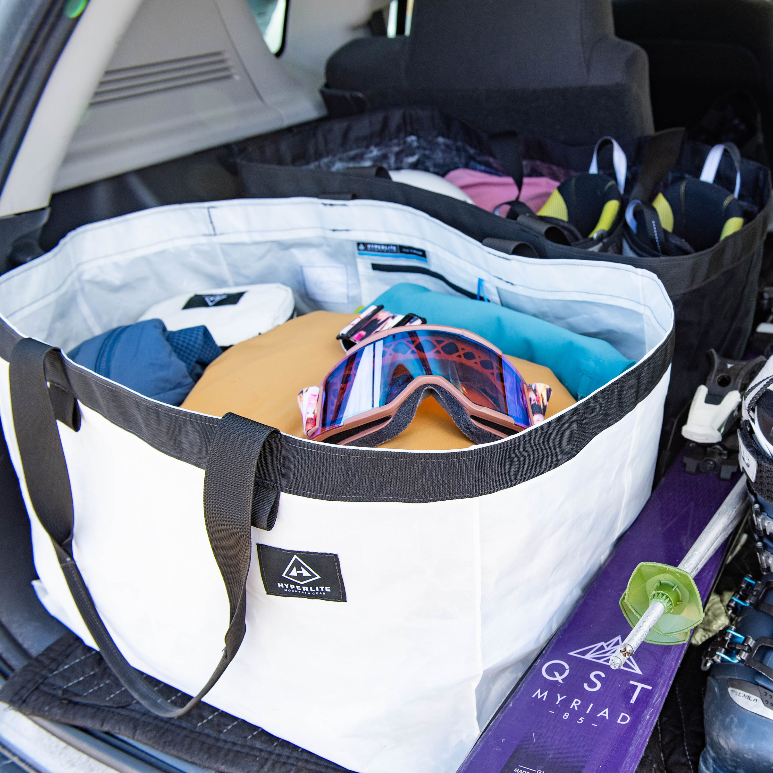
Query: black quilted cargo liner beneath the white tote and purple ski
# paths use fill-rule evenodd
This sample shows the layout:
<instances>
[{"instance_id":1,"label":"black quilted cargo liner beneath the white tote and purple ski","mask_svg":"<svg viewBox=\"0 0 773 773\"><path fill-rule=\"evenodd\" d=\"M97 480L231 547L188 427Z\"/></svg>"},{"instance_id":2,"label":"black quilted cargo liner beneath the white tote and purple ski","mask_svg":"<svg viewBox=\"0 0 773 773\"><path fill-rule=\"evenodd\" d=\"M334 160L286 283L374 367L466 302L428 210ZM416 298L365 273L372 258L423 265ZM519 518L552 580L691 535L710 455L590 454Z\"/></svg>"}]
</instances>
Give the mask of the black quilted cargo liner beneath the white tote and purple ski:
<instances>
[{"instance_id":1,"label":"black quilted cargo liner beneath the white tote and purple ski","mask_svg":"<svg viewBox=\"0 0 773 773\"><path fill-rule=\"evenodd\" d=\"M696 773L704 744L700 658L710 641L690 647L637 773ZM175 705L188 700L158 679L144 678ZM71 632L16 671L0 687L0 700L32 717L130 738L222 773L348 773L206 703L179 719L155 717L121 687L99 652Z\"/></svg>"}]
</instances>

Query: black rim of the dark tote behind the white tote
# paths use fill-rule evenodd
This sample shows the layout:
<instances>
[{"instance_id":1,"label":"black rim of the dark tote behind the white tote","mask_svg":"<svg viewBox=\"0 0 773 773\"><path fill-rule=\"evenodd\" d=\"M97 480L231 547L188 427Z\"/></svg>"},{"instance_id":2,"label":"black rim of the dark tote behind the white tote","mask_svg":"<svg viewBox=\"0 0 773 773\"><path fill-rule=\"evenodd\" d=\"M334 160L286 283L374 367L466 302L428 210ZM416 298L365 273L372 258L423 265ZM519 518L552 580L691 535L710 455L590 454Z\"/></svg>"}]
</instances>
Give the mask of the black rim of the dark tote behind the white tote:
<instances>
[{"instance_id":1,"label":"black rim of the dark tote behind the white tote","mask_svg":"<svg viewBox=\"0 0 773 773\"><path fill-rule=\"evenodd\" d=\"M438 124L438 121L445 121ZM487 238L509 241L525 241L534 247L539 257L564 260L608 261L621 263L635 268L652 271L662 281L669 297L673 299L708 284L725 271L747 261L764 239L771 219L771 182L770 172L764 166L741 159L740 198L756 203L760 207L757 216L741 230L730 234L720 243L707 250L691 255L664 258L638 257L616 254L607 251L611 243L621 237L621 226L610 235L609 247L604 251L591 251L567 247L544 240L536 236L523 224L506 217L499 217L478 206L468 204L441 193L414 188L386 179L364 178L347 175L345 172L331 172L327 169L305 169L296 164L307 164L332 152L346 147L348 135L342 135L340 126L355 126L362 133L361 140L367 138L367 144L377 144L380 137L393 138L403 136L399 128L405 123L433 126L440 136L456 138L459 131L466 131L466 141L476 148L488 146L490 141L466 127L442 116L437 111L426 108L388 109L375 111L336 121L324 121L313 127L304 127L298 131L284 131L278 137L258 143L240 156L238 165L247 196L253 198L277 198L284 196L325 196L325 193L351 193L358 199L375 199L392 202L419 209L427 215L441 220L442 223L465 233L468 237L483 241ZM460 128L461 127L461 128ZM425 127L426 128L426 127ZM456 132L456 133L449 133ZM472 133L469 133L472 132ZM363 140L364 141L364 140ZM628 156L629 182L641 165L649 145L650 138L621 141ZM560 169L582 172L588 168L593 155L592 145L572 147L561 145L543 138L521 135L517 138L519 155L526 162L543 159ZM708 145L686 141L683 144L679 162L674 168L676 174L689 173L698 176L703 161L709 151ZM720 161L720 172L733 170L730 179L734 179L734 165L730 158ZM511 170L512 171L512 170ZM630 189L628 194L630 194Z\"/></svg>"}]
</instances>

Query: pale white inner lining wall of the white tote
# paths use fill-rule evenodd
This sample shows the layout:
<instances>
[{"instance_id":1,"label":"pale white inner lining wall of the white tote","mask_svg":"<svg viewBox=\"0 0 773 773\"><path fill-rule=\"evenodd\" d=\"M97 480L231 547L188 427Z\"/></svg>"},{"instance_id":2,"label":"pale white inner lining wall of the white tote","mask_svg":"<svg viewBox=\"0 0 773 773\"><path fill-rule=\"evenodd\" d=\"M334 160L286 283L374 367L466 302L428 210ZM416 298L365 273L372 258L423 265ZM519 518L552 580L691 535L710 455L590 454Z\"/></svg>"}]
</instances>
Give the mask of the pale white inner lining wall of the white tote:
<instances>
[{"instance_id":1,"label":"pale white inner lining wall of the white tote","mask_svg":"<svg viewBox=\"0 0 773 773\"><path fill-rule=\"evenodd\" d=\"M26 335L66 351L202 286L279 281L294 289L301 313L352 312L398 281L455 294L421 274L372 271L373 262L395 261L358 261L359 241L426 250L427 268L453 284L475 292L482 278L490 300L501 289L506 305L609 340L635 359L656 346L673 315L648 271L505 256L405 206L319 199L182 204L83 226L49 254L0 277L0 311Z\"/></svg>"}]
</instances>

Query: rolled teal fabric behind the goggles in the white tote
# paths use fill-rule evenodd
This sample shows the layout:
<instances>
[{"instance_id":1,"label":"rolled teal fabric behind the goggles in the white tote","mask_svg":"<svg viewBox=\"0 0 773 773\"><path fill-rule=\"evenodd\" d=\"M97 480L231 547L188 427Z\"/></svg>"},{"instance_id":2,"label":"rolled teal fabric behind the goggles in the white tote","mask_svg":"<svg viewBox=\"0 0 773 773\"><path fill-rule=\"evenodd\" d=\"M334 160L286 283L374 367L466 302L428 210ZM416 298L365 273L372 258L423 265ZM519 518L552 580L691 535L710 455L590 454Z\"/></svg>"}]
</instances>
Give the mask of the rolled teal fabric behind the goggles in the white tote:
<instances>
[{"instance_id":1,"label":"rolled teal fabric behind the goggles in the white tote","mask_svg":"<svg viewBox=\"0 0 773 773\"><path fill-rule=\"evenodd\" d=\"M505 306L444 295L418 284L395 284L373 304L382 304L394 314L412 312L431 325L477 333L505 354L550 368L576 400L635 364L601 339L570 332Z\"/></svg>"}]
</instances>

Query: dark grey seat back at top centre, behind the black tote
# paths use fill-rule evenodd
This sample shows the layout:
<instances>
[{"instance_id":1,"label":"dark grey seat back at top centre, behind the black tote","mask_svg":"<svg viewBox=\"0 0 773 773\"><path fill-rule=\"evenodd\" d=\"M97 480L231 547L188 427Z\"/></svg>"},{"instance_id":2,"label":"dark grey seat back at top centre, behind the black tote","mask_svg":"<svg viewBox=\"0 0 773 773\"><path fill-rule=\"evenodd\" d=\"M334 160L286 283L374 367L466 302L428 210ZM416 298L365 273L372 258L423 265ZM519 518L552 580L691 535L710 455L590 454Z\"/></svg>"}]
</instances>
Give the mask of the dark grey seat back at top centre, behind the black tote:
<instances>
[{"instance_id":1,"label":"dark grey seat back at top centre, behind the black tote","mask_svg":"<svg viewBox=\"0 0 773 773\"><path fill-rule=\"evenodd\" d=\"M647 57L615 37L611 0L417 0L410 36L347 43L326 76L335 116L427 104L570 144L653 128Z\"/></svg>"}]
</instances>

